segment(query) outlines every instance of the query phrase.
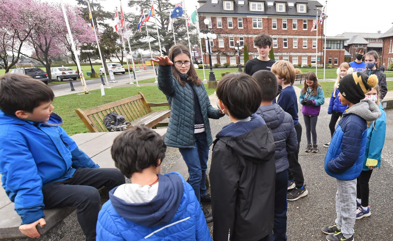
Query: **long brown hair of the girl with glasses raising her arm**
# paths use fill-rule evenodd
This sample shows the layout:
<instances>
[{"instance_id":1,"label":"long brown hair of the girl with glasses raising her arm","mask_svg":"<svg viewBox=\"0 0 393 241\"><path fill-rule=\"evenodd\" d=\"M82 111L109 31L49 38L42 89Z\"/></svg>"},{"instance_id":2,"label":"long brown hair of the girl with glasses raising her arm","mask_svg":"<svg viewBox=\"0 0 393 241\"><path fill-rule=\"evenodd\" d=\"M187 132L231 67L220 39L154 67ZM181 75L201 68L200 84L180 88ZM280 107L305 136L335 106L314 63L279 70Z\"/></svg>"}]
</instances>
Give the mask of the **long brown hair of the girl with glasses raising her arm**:
<instances>
[{"instance_id":1,"label":"long brown hair of the girl with glasses raising her arm","mask_svg":"<svg viewBox=\"0 0 393 241\"><path fill-rule=\"evenodd\" d=\"M177 55L180 55L182 53L185 53L191 59L190 51L183 44L176 44L172 46L171 50L169 50L168 58L173 62L173 59ZM172 66L172 75L179 81L182 86L185 86L185 81L180 78L179 72L176 70L174 64ZM191 80L191 84L196 84L197 86L200 86L202 81L196 75L195 68L192 64L190 64L190 69L188 70L187 75L188 79Z\"/></svg>"}]
</instances>

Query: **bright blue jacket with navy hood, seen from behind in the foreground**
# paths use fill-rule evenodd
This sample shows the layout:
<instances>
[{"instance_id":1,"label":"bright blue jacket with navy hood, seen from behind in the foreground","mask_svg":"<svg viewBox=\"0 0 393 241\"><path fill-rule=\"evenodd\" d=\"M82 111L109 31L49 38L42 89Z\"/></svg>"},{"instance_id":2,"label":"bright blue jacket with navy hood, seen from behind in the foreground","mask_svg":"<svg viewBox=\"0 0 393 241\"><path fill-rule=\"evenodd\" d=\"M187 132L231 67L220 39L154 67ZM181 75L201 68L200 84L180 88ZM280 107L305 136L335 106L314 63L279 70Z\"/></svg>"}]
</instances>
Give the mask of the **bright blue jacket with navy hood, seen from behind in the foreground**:
<instances>
[{"instance_id":1,"label":"bright blue jacket with navy hood, seen from behind in the foreground","mask_svg":"<svg viewBox=\"0 0 393 241\"><path fill-rule=\"evenodd\" d=\"M179 173L158 175L158 192L150 202L126 202L114 195L116 189L98 214L97 241L211 241L194 190Z\"/></svg>"}]
</instances>

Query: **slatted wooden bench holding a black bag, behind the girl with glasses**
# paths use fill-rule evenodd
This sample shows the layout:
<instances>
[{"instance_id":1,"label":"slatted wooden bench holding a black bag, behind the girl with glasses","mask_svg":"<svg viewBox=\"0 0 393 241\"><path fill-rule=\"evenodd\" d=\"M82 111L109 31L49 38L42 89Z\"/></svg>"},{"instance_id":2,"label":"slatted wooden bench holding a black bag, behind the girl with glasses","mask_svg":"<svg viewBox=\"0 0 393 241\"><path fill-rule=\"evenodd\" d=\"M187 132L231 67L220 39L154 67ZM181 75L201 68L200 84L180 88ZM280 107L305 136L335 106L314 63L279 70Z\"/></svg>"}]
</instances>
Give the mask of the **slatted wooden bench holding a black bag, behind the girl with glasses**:
<instances>
[{"instance_id":1,"label":"slatted wooden bench holding a black bag, behind the girl with glasses","mask_svg":"<svg viewBox=\"0 0 393 241\"><path fill-rule=\"evenodd\" d=\"M168 106L168 110L152 111L151 107L155 106ZM171 114L168 102L148 103L141 92L138 92L138 95L88 110L75 110L90 132L108 131L104 126L104 117L112 111L123 115L126 121L131 122L131 125L144 124L150 128L168 126L168 123L160 122Z\"/></svg>"}]
</instances>

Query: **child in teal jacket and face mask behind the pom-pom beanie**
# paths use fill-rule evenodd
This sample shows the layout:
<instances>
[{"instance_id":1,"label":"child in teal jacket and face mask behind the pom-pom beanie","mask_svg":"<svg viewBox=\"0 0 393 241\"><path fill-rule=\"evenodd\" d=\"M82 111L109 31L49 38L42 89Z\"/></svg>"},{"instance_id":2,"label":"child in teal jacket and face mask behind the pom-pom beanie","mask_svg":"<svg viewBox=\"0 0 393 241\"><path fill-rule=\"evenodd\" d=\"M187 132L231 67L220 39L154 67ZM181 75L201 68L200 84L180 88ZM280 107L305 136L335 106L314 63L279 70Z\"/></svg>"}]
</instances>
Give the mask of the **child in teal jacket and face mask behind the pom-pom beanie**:
<instances>
[{"instance_id":1,"label":"child in teal jacket and face mask behind the pom-pom beanie","mask_svg":"<svg viewBox=\"0 0 393 241\"><path fill-rule=\"evenodd\" d=\"M379 88L376 86L366 94L366 99L376 100L381 111L381 116L373 122L367 122L367 142L363 161L362 172L357 179L356 203L359 206L356 211L356 219L371 215L369 208L369 180L373 169L381 165L381 152L384 147L386 134L386 113L379 103Z\"/></svg>"}]
</instances>

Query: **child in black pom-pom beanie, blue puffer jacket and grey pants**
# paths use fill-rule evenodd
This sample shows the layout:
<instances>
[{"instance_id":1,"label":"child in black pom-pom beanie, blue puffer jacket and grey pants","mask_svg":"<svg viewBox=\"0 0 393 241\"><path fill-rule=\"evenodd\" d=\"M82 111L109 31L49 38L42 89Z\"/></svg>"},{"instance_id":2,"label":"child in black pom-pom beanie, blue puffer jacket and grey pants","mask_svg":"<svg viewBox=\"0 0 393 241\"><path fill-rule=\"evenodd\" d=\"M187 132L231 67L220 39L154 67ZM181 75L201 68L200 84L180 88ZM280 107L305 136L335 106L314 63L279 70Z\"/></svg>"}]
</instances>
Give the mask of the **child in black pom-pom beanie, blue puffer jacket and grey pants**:
<instances>
[{"instance_id":1,"label":"child in black pom-pom beanie, blue puffer jacket and grey pants","mask_svg":"<svg viewBox=\"0 0 393 241\"><path fill-rule=\"evenodd\" d=\"M336 214L334 225L322 232L328 241L353 241L356 213L356 178L362 171L367 139L367 121L376 120L381 112L371 100L362 100L375 87L378 79L356 72L345 75L337 84L339 98L348 109L338 122L325 156L325 171L337 179Z\"/></svg>"}]
</instances>

